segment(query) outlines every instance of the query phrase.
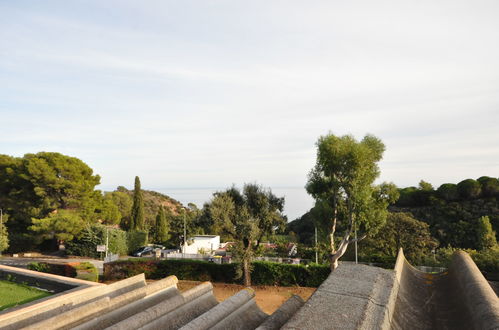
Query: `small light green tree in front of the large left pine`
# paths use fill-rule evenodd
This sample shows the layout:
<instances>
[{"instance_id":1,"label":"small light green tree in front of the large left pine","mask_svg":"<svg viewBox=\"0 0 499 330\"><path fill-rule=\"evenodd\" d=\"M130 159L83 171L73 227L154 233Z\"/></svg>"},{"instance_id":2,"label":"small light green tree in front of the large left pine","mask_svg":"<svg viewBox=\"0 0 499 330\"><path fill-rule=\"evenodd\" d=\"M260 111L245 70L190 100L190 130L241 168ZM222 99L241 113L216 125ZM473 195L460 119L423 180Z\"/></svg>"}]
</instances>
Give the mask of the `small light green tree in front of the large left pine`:
<instances>
[{"instance_id":1,"label":"small light green tree in front of the large left pine","mask_svg":"<svg viewBox=\"0 0 499 330\"><path fill-rule=\"evenodd\" d=\"M58 244L71 241L85 228L85 221L73 210L56 210L46 218L33 218L30 230L41 234L45 239L57 239Z\"/></svg>"}]
</instances>

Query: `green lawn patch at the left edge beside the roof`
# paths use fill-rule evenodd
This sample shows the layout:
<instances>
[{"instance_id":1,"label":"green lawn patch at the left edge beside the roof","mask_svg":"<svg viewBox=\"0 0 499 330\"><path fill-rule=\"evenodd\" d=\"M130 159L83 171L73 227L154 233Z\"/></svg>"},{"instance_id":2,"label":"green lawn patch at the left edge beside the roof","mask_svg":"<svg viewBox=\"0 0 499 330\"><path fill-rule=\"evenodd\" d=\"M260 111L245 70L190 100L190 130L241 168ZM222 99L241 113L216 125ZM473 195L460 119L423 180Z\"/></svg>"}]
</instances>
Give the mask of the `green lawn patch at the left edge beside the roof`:
<instances>
[{"instance_id":1,"label":"green lawn patch at the left edge beside the roof","mask_svg":"<svg viewBox=\"0 0 499 330\"><path fill-rule=\"evenodd\" d=\"M51 293L24 284L0 281L0 311L50 296Z\"/></svg>"}]
</instances>

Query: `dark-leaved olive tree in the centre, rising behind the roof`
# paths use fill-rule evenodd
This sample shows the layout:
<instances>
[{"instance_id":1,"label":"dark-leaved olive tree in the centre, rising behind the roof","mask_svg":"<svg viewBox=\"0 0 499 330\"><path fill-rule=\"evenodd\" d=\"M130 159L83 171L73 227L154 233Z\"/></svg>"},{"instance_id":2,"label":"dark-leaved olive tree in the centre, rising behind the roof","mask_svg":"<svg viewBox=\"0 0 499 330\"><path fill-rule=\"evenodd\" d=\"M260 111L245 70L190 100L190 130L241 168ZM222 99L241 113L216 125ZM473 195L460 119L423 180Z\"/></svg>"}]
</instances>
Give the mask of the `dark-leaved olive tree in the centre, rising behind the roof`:
<instances>
[{"instance_id":1,"label":"dark-leaved olive tree in the centre, rising behind the roof","mask_svg":"<svg viewBox=\"0 0 499 330\"><path fill-rule=\"evenodd\" d=\"M240 261L244 285L251 285L251 260L258 240L270 235L284 221L284 200L255 184L244 185L243 192L232 187L216 192L207 205L219 228L236 241L233 255Z\"/></svg>"}]
</instances>

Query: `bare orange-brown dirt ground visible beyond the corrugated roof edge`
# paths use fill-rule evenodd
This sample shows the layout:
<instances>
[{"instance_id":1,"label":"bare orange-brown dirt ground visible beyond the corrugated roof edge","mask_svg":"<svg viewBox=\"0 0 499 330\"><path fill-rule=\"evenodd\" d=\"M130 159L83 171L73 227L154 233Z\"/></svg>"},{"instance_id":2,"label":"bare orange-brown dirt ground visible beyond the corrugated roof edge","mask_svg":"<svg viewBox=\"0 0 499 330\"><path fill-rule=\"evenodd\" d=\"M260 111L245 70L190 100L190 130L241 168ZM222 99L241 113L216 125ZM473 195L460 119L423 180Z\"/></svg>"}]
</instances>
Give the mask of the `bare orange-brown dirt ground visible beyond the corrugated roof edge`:
<instances>
[{"instance_id":1,"label":"bare orange-brown dirt ground visible beyond the corrugated roof edge","mask_svg":"<svg viewBox=\"0 0 499 330\"><path fill-rule=\"evenodd\" d=\"M197 281L178 281L178 289L180 291L188 290L202 282ZM213 294L218 301L224 301L230 296L244 289L242 285L212 283ZM279 306L282 305L293 294L299 295L303 300L310 298L316 288L305 287L279 287L279 286L252 286L256 294L256 303L265 313L272 314Z\"/></svg>"}]
</instances>

